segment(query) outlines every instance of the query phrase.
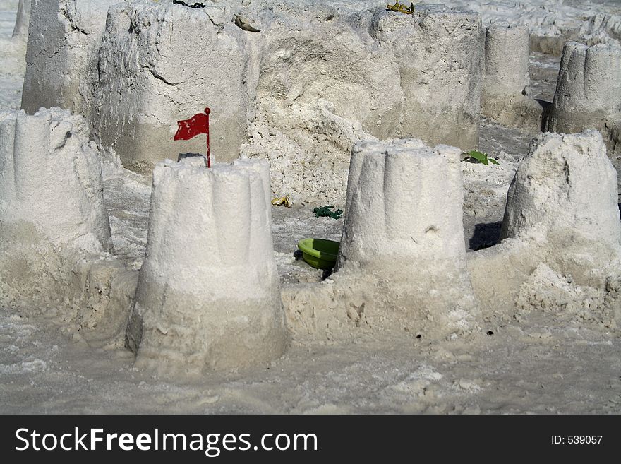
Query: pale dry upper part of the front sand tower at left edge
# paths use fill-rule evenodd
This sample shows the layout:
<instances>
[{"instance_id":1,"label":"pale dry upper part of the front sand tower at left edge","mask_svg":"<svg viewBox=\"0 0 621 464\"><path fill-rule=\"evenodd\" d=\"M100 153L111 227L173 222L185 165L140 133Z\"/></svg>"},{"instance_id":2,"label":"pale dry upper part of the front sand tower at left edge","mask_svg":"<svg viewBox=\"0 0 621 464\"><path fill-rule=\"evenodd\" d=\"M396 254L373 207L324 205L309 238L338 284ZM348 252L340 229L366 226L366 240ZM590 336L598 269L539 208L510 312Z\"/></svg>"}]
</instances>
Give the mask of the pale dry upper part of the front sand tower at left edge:
<instances>
[{"instance_id":1,"label":"pale dry upper part of the front sand tower at left edge","mask_svg":"<svg viewBox=\"0 0 621 464\"><path fill-rule=\"evenodd\" d=\"M100 162L82 117L1 112L0 150L2 242L32 238L20 232L32 227L54 246L111 248Z\"/></svg>"}]
</instances>

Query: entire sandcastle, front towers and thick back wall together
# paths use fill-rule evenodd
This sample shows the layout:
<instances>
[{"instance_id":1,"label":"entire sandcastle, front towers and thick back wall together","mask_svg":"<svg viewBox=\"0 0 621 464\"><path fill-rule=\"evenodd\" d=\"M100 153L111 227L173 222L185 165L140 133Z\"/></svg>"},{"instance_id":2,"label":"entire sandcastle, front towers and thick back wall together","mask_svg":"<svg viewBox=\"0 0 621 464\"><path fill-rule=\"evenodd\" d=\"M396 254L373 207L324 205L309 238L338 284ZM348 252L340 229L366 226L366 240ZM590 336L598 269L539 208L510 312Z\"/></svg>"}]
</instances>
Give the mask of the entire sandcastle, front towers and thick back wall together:
<instances>
[{"instance_id":1,"label":"entire sandcastle, front towers and thick back wall together","mask_svg":"<svg viewBox=\"0 0 621 464\"><path fill-rule=\"evenodd\" d=\"M542 265L597 288L620 278L615 171L595 131L538 136L510 188L502 242L466 254L460 155L478 138L476 13L419 6L404 15L345 2L305 16L282 3L249 8L244 24L260 29L252 31L229 20L231 6L104 2L89 16L85 5L94 4L32 4L31 24L49 33L49 44L30 35L23 106L63 105L85 114L90 129L59 109L0 115L0 297L8 306L53 308L89 341L123 334L139 366L201 374L263 365L289 340L481 333L493 311L512 307L533 270L545 275ZM180 21L192 27L175 28ZM528 100L527 33L489 28L486 37L483 106ZM188 51L186 42L218 53ZM503 64L499 50L511 47L517 61ZM579 67L572 57L582 48L571 47L562 76ZM204 67L209 73L199 76ZM212 85L202 84L205 75ZM574 111L568 101L588 100L581 92L591 81L582 81L583 90L571 81L559 81L568 87L555 97L552 126ZM171 122L205 99L222 114L212 119L218 160L239 153L272 160L282 174L277 190L288 185L287 175L332 172L341 184L349 176L330 279L279 285L274 187L264 160L211 169L200 157L155 164L181 150L172 145ZM618 108L593 101L580 108L603 114L608 127ZM510 112L514 117L515 108ZM202 138L195 143L183 151L204 150ZM459 148L430 148L436 143ZM272 159L270 146L294 154ZM116 150L137 170L156 166L139 275L111 255L98 149ZM325 194L327 186L319 189Z\"/></svg>"}]
</instances>

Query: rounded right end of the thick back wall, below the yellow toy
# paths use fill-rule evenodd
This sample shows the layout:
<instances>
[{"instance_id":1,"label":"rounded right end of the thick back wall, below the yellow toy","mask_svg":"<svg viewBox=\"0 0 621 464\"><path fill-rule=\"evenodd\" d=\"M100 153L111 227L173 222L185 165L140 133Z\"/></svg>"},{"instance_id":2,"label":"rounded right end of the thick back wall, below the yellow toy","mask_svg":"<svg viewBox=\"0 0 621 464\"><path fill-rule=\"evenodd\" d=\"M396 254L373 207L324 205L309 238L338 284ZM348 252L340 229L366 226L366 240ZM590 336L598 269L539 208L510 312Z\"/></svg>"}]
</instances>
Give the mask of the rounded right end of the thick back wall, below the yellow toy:
<instances>
[{"instance_id":1,"label":"rounded right end of the thick back wall, below the yellow toy","mask_svg":"<svg viewBox=\"0 0 621 464\"><path fill-rule=\"evenodd\" d=\"M419 5L412 15L375 10L370 34L391 49L404 97L402 126L390 136L464 149L478 145L481 33L474 11L443 5Z\"/></svg>"}]
</instances>

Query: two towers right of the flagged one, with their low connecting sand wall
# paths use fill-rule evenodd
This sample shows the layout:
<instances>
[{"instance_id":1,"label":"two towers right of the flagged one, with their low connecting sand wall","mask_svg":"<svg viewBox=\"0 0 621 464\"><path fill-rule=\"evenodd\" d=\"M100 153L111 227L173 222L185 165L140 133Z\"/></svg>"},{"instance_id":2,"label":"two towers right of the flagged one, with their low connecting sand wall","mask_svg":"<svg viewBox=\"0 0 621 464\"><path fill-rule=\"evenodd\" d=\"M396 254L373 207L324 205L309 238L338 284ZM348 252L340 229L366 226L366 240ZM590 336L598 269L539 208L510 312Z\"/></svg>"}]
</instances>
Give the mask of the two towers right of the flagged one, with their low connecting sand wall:
<instances>
[{"instance_id":1,"label":"two towers right of the flagged one, with their low connecting sand wall","mask_svg":"<svg viewBox=\"0 0 621 464\"><path fill-rule=\"evenodd\" d=\"M469 254L457 160L459 150L420 141L356 145L332 284L283 289L294 339L481 331L537 269L604 293L619 285L616 172L597 132L538 136L510 188L502 242Z\"/></svg>"}]
</instances>

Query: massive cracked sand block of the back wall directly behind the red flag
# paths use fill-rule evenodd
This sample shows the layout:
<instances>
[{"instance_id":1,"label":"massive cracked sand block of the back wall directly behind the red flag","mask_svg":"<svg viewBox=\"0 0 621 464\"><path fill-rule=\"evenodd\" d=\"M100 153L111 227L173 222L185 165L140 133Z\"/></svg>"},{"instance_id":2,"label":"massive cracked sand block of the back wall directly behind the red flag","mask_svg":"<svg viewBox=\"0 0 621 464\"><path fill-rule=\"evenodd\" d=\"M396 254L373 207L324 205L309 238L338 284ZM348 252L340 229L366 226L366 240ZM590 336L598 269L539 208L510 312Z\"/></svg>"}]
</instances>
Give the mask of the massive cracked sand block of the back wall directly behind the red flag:
<instances>
[{"instance_id":1,"label":"massive cracked sand block of the back wall directly behind the red flag","mask_svg":"<svg viewBox=\"0 0 621 464\"><path fill-rule=\"evenodd\" d=\"M175 121L205 106L212 109L217 159L238 157L248 119L248 32L232 23L216 25L224 14L219 8L170 1L109 8L90 125L95 139L113 148L125 167L151 172L177 153ZM204 143L196 138L184 150L200 152Z\"/></svg>"}]
</instances>

